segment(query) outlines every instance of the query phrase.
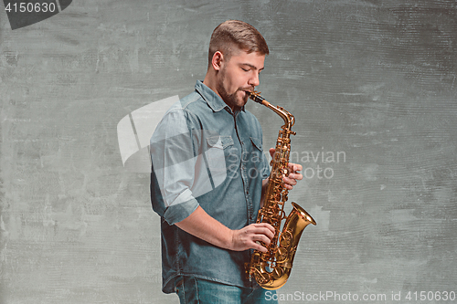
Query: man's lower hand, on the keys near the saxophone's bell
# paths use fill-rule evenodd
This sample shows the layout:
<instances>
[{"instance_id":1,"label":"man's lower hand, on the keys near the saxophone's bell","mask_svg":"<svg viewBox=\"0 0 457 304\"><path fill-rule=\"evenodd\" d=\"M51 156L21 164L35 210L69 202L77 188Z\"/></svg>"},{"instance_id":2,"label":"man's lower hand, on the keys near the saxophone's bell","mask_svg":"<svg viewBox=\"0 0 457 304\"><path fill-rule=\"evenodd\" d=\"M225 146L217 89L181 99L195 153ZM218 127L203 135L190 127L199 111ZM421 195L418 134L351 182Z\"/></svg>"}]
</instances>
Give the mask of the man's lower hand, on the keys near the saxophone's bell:
<instances>
[{"instance_id":1,"label":"man's lower hand, on the keys near the saxophone's bell","mask_svg":"<svg viewBox=\"0 0 457 304\"><path fill-rule=\"evenodd\" d=\"M232 244L229 249L243 251L252 248L267 252L267 248L257 242L260 241L268 246L274 236L274 228L267 223L251 224L239 230L231 230L231 234Z\"/></svg>"}]
</instances>

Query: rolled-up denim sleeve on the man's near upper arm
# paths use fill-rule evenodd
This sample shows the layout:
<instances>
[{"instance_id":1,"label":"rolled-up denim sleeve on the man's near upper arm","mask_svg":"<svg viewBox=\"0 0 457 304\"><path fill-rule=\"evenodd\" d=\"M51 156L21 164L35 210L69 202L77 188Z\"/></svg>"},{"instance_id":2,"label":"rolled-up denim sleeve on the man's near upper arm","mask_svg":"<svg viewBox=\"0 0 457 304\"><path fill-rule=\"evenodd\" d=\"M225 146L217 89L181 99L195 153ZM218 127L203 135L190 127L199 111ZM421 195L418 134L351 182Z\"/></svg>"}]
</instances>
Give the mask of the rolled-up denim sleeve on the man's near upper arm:
<instances>
[{"instance_id":1,"label":"rolled-up denim sleeve on the man's near upper arm","mask_svg":"<svg viewBox=\"0 0 457 304\"><path fill-rule=\"evenodd\" d=\"M150 142L151 202L169 225L182 221L199 205L192 192L199 156L188 116L176 104L165 113Z\"/></svg>"}]
</instances>

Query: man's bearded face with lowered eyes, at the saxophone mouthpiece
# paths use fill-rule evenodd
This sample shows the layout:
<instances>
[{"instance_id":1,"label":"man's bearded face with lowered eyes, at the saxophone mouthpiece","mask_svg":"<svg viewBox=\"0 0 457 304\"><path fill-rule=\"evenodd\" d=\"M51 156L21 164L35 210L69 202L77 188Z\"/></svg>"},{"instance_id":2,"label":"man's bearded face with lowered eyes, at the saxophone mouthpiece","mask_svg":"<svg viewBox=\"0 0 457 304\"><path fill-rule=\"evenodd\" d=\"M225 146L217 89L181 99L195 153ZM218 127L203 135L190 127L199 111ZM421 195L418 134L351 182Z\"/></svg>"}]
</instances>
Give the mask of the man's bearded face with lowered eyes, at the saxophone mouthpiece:
<instances>
[{"instance_id":1,"label":"man's bearded face with lowered eyes, at the saxophone mouthpiece","mask_svg":"<svg viewBox=\"0 0 457 304\"><path fill-rule=\"evenodd\" d=\"M244 106L248 102L246 91L252 91L260 84L259 74L264 61L265 55L239 50L222 62L216 89L232 110Z\"/></svg>"}]
</instances>

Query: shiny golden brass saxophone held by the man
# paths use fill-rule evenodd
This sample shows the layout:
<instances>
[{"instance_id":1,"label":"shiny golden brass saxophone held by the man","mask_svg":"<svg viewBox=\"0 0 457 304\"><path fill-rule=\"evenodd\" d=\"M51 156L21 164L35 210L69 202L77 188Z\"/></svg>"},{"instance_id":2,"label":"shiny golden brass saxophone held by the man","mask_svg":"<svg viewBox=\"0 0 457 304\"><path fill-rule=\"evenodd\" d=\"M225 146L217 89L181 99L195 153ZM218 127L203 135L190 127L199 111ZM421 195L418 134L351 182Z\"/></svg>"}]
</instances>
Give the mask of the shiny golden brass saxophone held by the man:
<instances>
[{"instance_id":1,"label":"shiny golden brass saxophone held by the man","mask_svg":"<svg viewBox=\"0 0 457 304\"><path fill-rule=\"evenodd\" d=\"M272 106L260 96L260 92L247 91L247 93L251 100L270 108L284 120L271 160L270 181L265 190L265 200L257 216L257 223L271 224L275 234L270 245L267 246L268 251L263 253L254 250L250 264L246 265L249 278L254 277L260 287L273 290L282 288L291 275L293 257L303 229L309 224L316 225L316 223L311 215L293 202L290 215L286 217L284 213L284 204L289 190L284 187L282 176L290 173L288 166L291 152L290 136L296 134L291 130L295 122L293 115L280 106ZM280 232L283 219L285 223Z\"/></svg>"}]
</instances>

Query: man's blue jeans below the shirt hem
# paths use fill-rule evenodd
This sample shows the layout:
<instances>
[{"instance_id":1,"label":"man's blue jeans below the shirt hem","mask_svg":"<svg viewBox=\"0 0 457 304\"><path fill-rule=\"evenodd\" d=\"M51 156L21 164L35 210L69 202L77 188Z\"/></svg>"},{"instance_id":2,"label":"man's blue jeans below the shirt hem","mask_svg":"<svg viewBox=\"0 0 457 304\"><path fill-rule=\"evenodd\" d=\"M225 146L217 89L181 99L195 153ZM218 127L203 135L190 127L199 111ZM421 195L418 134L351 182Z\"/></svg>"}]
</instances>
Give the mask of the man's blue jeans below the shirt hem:
<instances>
[{"instance_id":1,"label":"man's blue jeans below the shirt hem","mask_svg":"<svg viewBox=\"0 0 457 304\"><path fill-rule=\"evenodd\" d=\"M181 304L277 304L276 292L263 288L239 288L203 278L180 277L175 280L175 292Z\"/></svg>"}]
</instances>

